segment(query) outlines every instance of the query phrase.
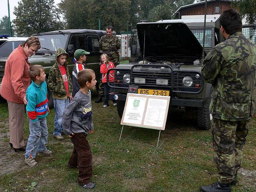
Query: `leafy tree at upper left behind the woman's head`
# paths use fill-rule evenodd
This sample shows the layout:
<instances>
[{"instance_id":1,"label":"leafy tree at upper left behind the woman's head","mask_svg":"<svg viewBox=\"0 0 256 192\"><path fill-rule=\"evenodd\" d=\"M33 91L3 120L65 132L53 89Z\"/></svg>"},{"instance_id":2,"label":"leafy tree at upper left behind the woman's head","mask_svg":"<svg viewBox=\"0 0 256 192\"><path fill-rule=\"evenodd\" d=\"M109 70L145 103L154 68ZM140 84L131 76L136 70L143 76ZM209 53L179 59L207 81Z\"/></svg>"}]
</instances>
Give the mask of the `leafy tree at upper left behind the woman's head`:
<instances>
[{"instance_id":1,"label":"leafy tree at upper left behind the woman's head","mask_svg":"<svg viewBox=\"0 0 256 192\"><path fill-rule=\"evenodd\" d=\"M13 20L18 34L60 30L60 10L54 6L54 0L21 0L14 7L16 19Z\"/></svg>"}]
</instances>

